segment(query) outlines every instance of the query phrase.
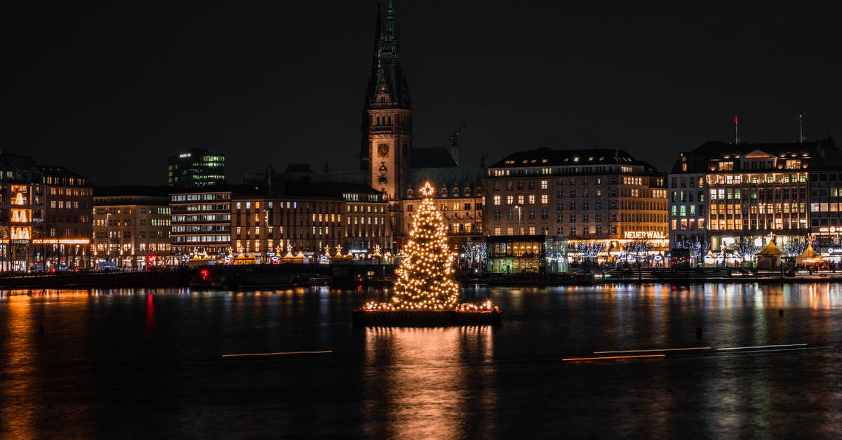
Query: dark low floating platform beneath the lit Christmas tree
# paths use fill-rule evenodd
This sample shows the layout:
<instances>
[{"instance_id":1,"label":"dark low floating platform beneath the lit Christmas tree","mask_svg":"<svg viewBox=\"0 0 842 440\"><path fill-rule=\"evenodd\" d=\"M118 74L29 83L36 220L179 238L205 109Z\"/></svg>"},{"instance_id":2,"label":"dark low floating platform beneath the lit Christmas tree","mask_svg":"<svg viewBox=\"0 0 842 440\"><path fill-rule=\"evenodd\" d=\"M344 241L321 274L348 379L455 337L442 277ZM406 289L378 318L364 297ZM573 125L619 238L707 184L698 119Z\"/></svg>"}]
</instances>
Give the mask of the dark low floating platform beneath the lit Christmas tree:
<instances>
[{"instance_id":1,"label":"dark low floating platform beneath the lit Christmas tree","mask_svg":"<svg viewBox=\"0 0 842 440\"><path fill-rule=\"evenodd\" d=\"M478 325L503 325L500 309L477 312L456 311L393 311L354 310L354 327L460 327Z\"/></svg>"}]
</instances>

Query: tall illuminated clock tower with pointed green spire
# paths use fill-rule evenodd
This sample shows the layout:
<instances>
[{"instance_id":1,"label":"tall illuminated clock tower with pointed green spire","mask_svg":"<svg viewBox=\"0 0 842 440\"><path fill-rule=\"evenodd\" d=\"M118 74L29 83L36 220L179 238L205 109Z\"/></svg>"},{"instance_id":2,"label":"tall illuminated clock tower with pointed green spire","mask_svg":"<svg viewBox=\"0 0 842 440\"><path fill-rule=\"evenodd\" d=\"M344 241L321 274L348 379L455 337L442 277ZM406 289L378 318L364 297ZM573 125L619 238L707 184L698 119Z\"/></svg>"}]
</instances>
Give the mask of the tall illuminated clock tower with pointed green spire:
<instances>
[{"instance_id":1,"label":"tall illuminated clock tower with pointed green spire","mask_svg":"<svg viewBox=\"0 0 842 440\"><path fill-rule=\"evenodd\" d=\"M408 185L413 109L407 78L403 75L401 41L392 0L382 22L380 3L377 3L375 38L371 78L365 95L360 166L367 169L372 188L380 190L387 200L397 200L406 196Z\"/></svg>"}]
</instances>

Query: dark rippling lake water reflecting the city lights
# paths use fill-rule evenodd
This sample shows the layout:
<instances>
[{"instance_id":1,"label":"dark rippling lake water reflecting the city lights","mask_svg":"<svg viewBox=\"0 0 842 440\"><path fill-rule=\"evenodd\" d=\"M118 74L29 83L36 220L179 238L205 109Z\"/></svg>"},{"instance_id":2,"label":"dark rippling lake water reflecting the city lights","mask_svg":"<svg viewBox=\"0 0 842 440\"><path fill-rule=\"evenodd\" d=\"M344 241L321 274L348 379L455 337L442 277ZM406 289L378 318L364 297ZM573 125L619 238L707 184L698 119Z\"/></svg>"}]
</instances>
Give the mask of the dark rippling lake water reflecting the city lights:
<instances>
[{"instance_id":1,"label":"dark rippling lake water reflecting the city lights","mask_svg":"<svg viewBox=\"0 0 842 440\"><path fill-rule=\"evenodd\" d=\"M4 295L0 437L842 436L836 284L465 295L504 327L352 328L374 291ZM279 351L330 352L222 357Z\"/></svg>"}]
</instances>

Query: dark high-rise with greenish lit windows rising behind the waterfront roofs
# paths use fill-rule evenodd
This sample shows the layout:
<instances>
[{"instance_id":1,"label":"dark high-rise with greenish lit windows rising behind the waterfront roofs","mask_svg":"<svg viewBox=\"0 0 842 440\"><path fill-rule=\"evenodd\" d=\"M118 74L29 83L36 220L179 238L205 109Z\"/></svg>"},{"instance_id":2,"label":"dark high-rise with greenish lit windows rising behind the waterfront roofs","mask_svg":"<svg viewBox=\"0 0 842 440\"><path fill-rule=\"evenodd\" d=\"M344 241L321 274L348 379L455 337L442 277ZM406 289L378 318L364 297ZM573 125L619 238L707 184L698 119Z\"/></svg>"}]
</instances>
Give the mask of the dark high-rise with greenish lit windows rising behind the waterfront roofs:
<instances>
[{"instance_id":1,"label":"dark high-rise with greenish lit windows rising behind the waterfront roofs","mask_svg":"<svg viewBox=\"0 0 842 440\"><path fill-rule=\"evenodd\" d=\"M194 148L169 157L167 184L173 188L207 188L225 184L225 154Z\"/></svg>"}]
</instances>

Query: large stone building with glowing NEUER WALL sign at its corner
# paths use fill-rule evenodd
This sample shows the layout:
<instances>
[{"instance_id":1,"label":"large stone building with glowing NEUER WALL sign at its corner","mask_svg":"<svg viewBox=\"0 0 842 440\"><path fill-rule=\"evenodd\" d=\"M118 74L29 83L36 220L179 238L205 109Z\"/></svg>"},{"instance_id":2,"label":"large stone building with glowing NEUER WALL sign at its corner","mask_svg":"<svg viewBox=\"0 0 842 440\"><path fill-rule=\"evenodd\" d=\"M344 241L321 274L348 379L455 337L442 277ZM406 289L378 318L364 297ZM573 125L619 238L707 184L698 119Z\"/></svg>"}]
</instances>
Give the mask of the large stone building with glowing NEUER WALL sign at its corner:
<instances>
[{"instance_id":1,"label":"large stone building with glowing NEUER WALL sign at its corner","mask_svg":"<svg viewBox=\"0 0 842 440\"><path fill-rule=\"evenodd\" d=\"M484 187L488 237L566 235L574 260L667 250L666 177L622 150L513 153L488 168Z\"/></svg>"}]
</instances>

